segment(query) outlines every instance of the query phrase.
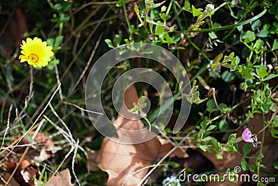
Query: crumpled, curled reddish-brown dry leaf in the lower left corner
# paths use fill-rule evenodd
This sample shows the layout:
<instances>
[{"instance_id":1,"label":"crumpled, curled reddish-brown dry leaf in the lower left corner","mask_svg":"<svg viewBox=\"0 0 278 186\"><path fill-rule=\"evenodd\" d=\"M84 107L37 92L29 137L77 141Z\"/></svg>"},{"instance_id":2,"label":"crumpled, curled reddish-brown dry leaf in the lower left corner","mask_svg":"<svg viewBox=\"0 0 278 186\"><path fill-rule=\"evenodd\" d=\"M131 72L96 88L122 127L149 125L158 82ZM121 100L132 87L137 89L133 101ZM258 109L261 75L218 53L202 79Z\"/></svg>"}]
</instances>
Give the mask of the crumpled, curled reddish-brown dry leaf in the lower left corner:
<instances>
[{"instance_id":1,"label":"crumpled, curled reddish-brown dry leaf in the lower left corner","mask_svg":"<svg viewBox=\"0 0 278 186\"><path fill-rule=\"evenodd\" d=\"M35 132L29 132L28 134L32 137L34 133ZM16 141L19 138L20 136L14 137L13 141ZM8 155L8 157L1 162L0 166L5 168L7 172L11 173L22 158L26 146L28 146L28 152L13 176L13 178L17 180L17 183L22 186L35 185L33 176L36 178L40 176L40 169L38 166L40 166L40 163L44 160L53 157L56 152L54 142L43 133L39 132L34 141L35 143L32 144L27 137L24 137L22 141L19 142L19 146L14 148L13 153L8 155L8 150L6 150L6 152L2 154L3 157L6 157L6 155Z\"/></svg>"}]
</instances>

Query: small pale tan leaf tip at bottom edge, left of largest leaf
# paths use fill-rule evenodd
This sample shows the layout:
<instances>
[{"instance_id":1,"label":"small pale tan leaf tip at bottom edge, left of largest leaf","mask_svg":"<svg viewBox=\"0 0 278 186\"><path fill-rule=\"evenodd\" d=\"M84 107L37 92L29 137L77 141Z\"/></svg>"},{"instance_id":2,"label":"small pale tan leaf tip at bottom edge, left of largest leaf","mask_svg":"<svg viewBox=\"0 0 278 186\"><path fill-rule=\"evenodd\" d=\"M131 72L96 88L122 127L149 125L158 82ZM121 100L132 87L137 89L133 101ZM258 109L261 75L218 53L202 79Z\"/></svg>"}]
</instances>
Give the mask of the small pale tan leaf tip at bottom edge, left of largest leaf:
<instances>
[{"instance_id":1,"label":"small pale tan leaf tip at bottom edge, left of largest leaf","mask_svg":"<svg viewBox=\"0 0 278 186\"><path fill-rule=\"evenodd\" d=\"M59 178L60 177L60 178ZM51 176L46 186L71 186L73 185L71 182L70 170L65 169L58 173L58 176Z\"/></svg>"}]
</instances>

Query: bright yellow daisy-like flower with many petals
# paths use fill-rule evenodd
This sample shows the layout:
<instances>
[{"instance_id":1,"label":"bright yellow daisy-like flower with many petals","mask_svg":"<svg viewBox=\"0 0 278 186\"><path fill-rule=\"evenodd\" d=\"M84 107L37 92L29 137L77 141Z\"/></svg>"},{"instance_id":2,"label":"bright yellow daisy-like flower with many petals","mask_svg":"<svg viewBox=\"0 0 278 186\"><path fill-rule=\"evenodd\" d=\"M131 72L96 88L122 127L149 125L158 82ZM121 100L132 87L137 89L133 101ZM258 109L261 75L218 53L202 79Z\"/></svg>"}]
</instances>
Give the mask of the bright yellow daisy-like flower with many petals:
<instances>
[{"instance_id":1,"label":"bright yellow daisy-like flower with many petals","mask_svg":"<svg viewBox=\"0 0 278 186\"><path fill-rule=\"evenodd\" d=\"M20 45L22 49L22 54L19 56L20 63L27 61L29 65L33 67L44 67L51 61L50 57L54 55L54 52L51 51L52 47L47 46L47 42L40 38L35 37L33 40L27 38L22 41Z\"/></svg>"}]
</instances>

